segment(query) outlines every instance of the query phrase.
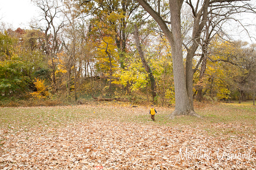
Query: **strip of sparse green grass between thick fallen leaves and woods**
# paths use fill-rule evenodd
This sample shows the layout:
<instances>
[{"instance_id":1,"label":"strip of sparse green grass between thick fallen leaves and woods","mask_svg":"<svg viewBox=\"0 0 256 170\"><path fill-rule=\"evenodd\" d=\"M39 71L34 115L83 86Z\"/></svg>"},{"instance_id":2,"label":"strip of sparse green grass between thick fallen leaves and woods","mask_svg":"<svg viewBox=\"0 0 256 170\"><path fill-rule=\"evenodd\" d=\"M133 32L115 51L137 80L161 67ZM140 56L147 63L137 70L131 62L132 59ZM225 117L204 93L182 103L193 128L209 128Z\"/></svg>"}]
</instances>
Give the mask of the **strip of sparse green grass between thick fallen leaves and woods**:
<instances>
[{"instance_id":1,"label":"strip of sparse green grass between thick fallen leaves and woods","mask_svg":"<svg viewBox=\"0 0 256 170\"><path fill-rule=\"evenodd\" d=\"M199 105L199 104L197 104ZM200 106L200 105L199 105ZM255 134L256 107L252 101L242 104L215 104L196 108L204 116L177 116L169 120L174 108L156 107L156 121L150 120L149 108L132 108L127 104L104 103L82 106L57 107L2 107L0 108L1 129L49 128L75 125L90 120L111 120L148 125L191 127L211 135Z\"/></svg>"}]
</instances>

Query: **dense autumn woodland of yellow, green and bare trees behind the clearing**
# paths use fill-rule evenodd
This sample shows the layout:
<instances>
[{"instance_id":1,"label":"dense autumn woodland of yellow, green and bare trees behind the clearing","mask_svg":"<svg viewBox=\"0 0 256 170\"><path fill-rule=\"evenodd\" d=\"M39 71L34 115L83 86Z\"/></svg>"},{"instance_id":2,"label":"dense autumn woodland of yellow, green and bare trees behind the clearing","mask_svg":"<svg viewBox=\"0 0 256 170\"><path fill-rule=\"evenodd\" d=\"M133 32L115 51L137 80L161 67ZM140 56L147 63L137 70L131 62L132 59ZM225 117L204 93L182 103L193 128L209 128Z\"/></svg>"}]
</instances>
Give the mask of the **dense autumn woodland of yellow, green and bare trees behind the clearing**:
<instances>
[{"instance_id":1,"label":"dense autumn woodland of yellow, green and bare trees behind the clearing","mask_svg":"<svg viewBox=\"0 0 256 170\"><path fill-rule=\"evenodd\" d=\"M182 1L179 23L172 21L170 3L34 1L41 14L30 29L1 25L2 105L115 99L174 106L185 77L190 105L191 98L192 105L254 101L256 46L233 39L237 32L227 29L238 22L248 32L251 23L243 25L238 15L255 18L253 2Z\"/></svg>"}]
</instances>

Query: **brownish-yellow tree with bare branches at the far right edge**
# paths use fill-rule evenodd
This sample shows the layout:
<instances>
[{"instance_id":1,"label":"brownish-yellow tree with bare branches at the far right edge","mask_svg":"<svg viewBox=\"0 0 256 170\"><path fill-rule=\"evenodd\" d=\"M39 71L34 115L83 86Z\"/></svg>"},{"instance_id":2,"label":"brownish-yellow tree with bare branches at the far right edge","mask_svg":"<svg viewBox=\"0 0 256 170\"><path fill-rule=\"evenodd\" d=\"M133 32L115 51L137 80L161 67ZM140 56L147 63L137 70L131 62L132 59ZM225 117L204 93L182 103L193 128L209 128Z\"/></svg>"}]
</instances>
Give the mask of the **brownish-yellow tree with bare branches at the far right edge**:
<instances>
[{"instance_id":1,"label":"brownish-yellow tree with bare branches at the far right edge","mask_svg":"<svg viewBox=\"0 0 256 170\"><path fill-rule=\"evenodd\" d=\"M238 91L239 103L246 100L246 93L253 90L256 69L254 46L247 46L243 41L216 41L210 48L211 54L207 57L209 66L218 65L214 72L219 72L219 80L226 82L227 89ZM209 75L208 71L206 73ZM213 78L211 73L210 77Z\"/></svg>"}]
</instances>

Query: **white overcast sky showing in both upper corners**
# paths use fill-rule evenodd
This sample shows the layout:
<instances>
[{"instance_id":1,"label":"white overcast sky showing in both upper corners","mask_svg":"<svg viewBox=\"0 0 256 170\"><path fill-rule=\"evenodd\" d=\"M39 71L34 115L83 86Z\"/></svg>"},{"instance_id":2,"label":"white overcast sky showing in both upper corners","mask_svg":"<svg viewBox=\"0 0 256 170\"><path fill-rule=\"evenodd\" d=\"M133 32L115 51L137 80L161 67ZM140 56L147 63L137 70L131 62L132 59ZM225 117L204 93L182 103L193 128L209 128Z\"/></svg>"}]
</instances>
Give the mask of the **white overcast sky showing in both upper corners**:
<instances>
[{"instance_id":1,"label":"white overcast sky showing in both upper corners","mask_svg":"<svg viewBox=\"0 0 256 170\"><path fill-rule=\"evenodd\" d=\"M256 0L253 0L256 2ZM242 27L237 28L236 24L230 25L230 30L235 39L242 39L251 43L250 41L256 41L256 27L255 27L255 15L242 16L244 23L254 24L247 31L253 37L249 39L247 32L242 31ZM29 22L31 19L39 16L38 8L31 3L31 0L0 0L0 22L12 24L13 29L18 27L22 29L29 29ZM247 23L248 22L248 23ZM233 28L232 28L233 27ZM7 25L9 28L9 25Z\"/></svg>"}]
</instances>

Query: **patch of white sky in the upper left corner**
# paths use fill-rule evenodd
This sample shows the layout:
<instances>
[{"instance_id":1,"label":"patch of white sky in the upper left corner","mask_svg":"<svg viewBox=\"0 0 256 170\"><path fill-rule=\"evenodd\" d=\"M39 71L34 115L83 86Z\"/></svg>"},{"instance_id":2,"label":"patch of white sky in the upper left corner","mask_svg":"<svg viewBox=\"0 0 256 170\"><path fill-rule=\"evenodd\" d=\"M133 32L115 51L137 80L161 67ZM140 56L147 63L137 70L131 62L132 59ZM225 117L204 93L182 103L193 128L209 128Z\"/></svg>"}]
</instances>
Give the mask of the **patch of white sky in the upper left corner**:
<instances>
[{"instance_id":1,"label":"patch of white sky in the upper left corner","mask_svg":"<svg viewBox=\"0 0 256 170\"><path fill-rule=\"evenodd\" d=\"M13 29L29 28L29 22L38 16L31 0L0 0L0 22L12 24Z\"/></svg>"}]
</instances>

